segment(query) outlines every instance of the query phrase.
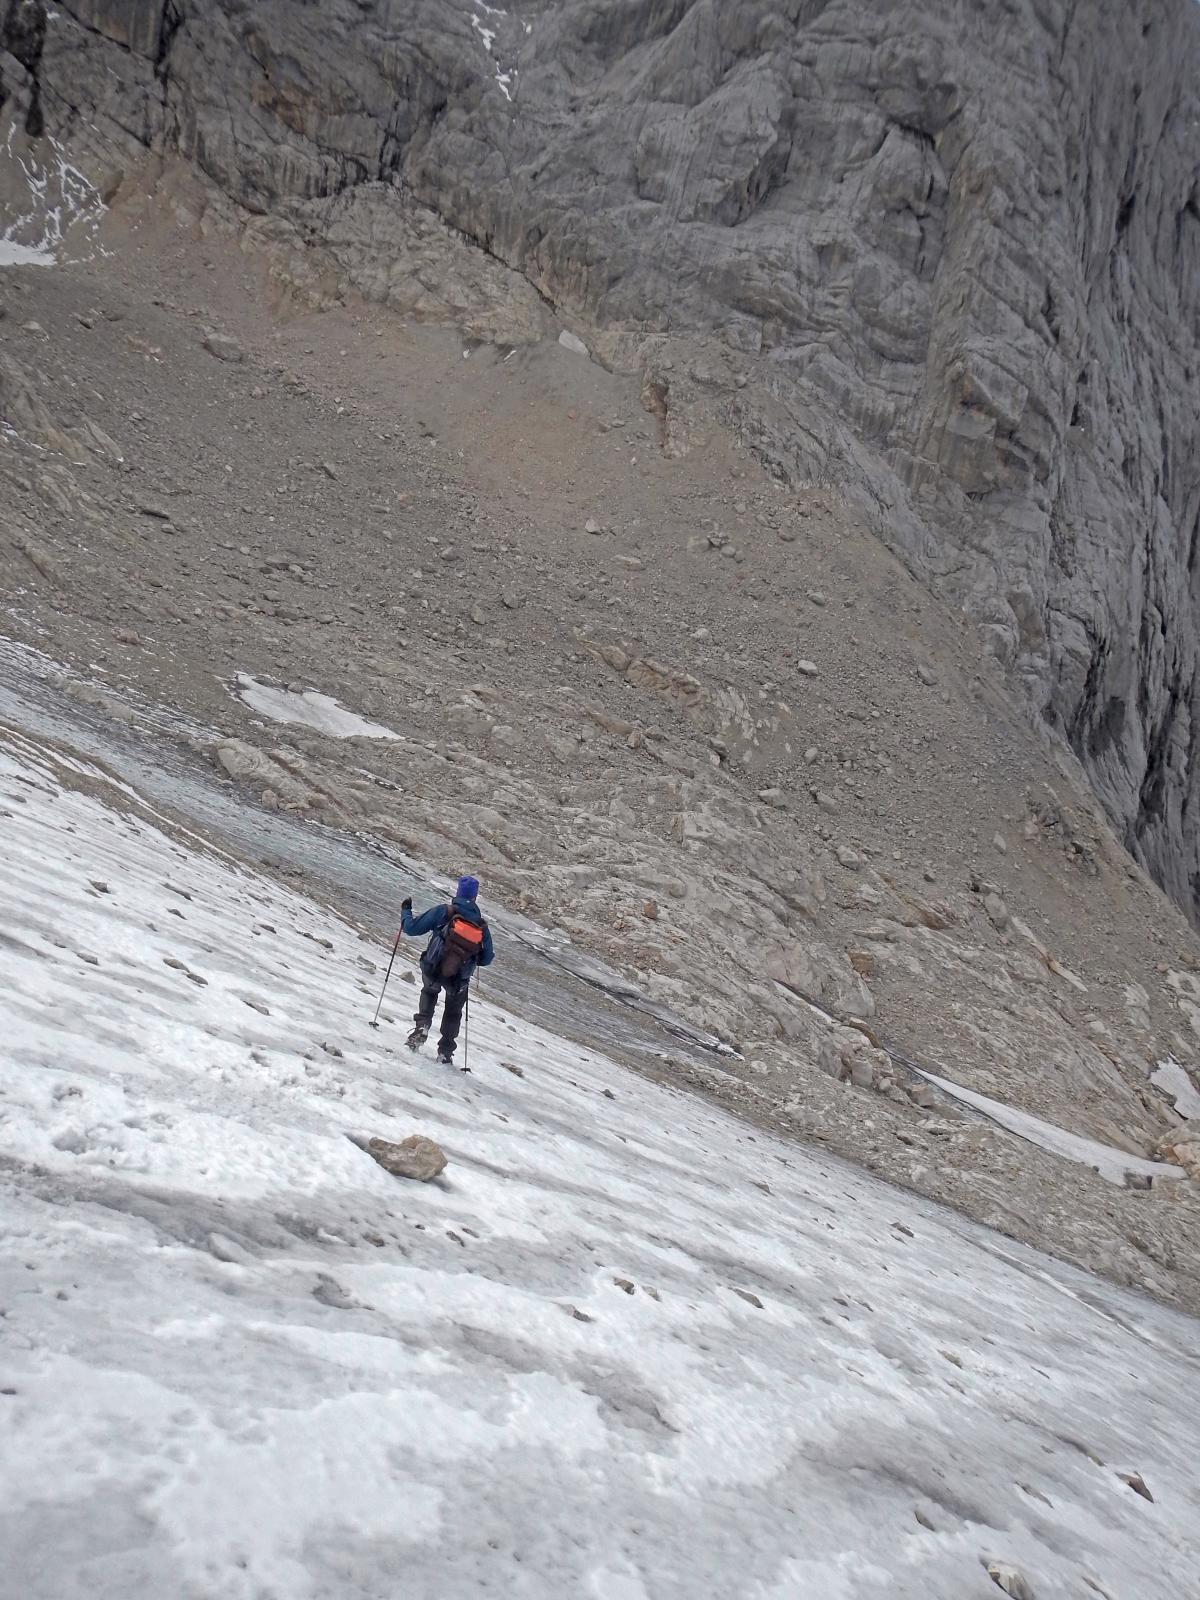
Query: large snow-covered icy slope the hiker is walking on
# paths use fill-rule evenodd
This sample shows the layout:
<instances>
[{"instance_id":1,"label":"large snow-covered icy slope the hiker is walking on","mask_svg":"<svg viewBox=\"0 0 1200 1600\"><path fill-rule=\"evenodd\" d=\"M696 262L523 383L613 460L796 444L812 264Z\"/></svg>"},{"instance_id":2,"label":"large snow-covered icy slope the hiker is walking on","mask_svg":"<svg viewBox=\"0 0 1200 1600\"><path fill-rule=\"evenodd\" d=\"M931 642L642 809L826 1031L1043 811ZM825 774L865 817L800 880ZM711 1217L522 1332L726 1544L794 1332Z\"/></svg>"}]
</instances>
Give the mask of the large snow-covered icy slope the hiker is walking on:
<instances>
[{"instance_id":1,"label":"large snow-covered icy slope the hiker is walking on","mask_svg":"<svg viewBox=\"0 0 1200 1600\"><path fill-rule=\"evenodd\" d=\"M1197 1323L480 998L416 1059L410 968L371 1032L386 950L14 734L0 840L3 1595L1197 1592Z\"/></svg>"}]
</instances>

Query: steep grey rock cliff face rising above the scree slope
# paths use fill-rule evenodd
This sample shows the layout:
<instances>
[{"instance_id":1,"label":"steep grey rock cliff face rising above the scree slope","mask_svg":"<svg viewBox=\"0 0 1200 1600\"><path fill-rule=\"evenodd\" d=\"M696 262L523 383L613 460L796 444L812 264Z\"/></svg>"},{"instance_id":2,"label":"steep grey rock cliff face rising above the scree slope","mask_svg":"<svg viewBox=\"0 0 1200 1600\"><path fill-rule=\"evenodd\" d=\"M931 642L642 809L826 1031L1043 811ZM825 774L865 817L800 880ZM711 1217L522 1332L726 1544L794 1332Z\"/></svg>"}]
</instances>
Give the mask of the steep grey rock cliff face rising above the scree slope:
<instances>
[{"instance_id":1,"label":"steep grey rock cliff face rising above the scree slope","mask_svg":"<svg viewBox=\"0 0 1200 1600\"><path fill-rule=\"evenodd\" d=\"M549 302L645 373L670 448L704 403L846 485L1195 914L1192 0L10 0L2 27L8 112L109 181L178 150L258 243L482 338Z\"/></svg>"}]
</instances>

